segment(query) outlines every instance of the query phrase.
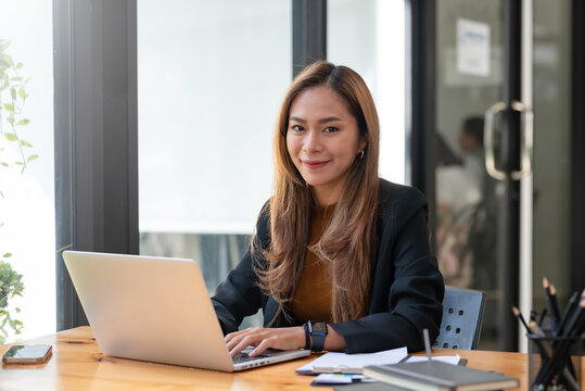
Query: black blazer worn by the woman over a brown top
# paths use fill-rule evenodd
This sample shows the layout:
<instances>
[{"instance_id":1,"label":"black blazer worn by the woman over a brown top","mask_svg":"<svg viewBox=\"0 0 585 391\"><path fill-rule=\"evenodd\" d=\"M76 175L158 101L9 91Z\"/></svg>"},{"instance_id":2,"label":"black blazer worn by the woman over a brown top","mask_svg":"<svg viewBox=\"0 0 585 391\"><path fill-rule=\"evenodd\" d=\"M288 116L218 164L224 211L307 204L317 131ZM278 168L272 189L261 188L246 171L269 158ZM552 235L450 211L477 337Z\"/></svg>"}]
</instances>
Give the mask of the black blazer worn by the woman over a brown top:
<instances>
[{"instance_id":1,"label":"black blazer worn by the woman over a brown top","mask_svg":"<svg viewBox=\"0 0 585 391\"><path fill-rule=\"evenodd\" d=\"M331 324L345 338L347 353L377 352L407 346L424 348L422 329L432 340L438 336L445 285L429 247L428 209L415 188L380 179L378 213L378 260L376 262L368 315ZM263 213L256 240L269 245L269 216ZM256 256L256 255L255 255ZM212 302L225 333L238 330L244 316L264 312L264 326L275 316L278 304L257 286L252 262L264 262L245 253L216 290ZM272 327L298 326L294 319L277 318Z\"/></svg>"}]
</instances>

